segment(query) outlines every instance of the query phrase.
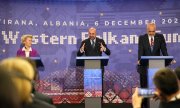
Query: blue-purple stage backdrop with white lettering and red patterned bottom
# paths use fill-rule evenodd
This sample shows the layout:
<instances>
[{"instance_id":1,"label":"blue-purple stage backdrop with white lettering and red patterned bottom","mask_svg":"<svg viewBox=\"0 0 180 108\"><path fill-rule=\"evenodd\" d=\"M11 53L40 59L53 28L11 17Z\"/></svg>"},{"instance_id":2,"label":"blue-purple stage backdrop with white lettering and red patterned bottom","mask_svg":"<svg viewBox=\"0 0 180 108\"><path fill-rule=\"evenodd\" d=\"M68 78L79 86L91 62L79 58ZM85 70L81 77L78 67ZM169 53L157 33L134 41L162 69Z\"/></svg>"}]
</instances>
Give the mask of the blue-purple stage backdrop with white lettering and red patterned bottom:
<instances>
[{"instance_id":1,"label":"blue-purple stage backdrop with white lettering and red patterned bottom","mask_svg":"<svg viewBox=\"0 0 180 108\"><path fill-rule=\"evenodd\" d=\"M0 59L16 56L21 36L32 34L45 65L38 89L59 103L81 103L83 73L75 57L88 28L96 27L112 52L104 102L131 102L132 88L139 86L138 36L146 33L148 22L164 34L169 55L177 61L171 67L180 65L179 0L1 0Z\"/></svg>"}]
</instances>

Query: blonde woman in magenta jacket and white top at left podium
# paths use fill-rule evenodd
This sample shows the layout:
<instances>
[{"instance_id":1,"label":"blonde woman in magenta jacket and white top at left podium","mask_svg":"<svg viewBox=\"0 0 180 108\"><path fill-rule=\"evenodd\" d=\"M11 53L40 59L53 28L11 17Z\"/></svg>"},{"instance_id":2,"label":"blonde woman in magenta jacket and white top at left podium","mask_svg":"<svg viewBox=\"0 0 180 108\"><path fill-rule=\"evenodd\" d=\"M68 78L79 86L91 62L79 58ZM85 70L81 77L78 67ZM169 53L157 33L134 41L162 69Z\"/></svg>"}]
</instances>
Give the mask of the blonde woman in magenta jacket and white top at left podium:
<instances>
[{"instance_id":1,"label":"blonde woman in magenta jacket and white top at left podium","mask_svg":"<svg viewBox=\"0 0 180 108\"><path fill-rule=\"evenodd\" d=\"M26 34L21 37L21 43L22 43L23 47L17 51L17 56L39 57L38 52L31 47L32 38L33 38L33 36L31 34Z\"/></svg>"}]
</instances>

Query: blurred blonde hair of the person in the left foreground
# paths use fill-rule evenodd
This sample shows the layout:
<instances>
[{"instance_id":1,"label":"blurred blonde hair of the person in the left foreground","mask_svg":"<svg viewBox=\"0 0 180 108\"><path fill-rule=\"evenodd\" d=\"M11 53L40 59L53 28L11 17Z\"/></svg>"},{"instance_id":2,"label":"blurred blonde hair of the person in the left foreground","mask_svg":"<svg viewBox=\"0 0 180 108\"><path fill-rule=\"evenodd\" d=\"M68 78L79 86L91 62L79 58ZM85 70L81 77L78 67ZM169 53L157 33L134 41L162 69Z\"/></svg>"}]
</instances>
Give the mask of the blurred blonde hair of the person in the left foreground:
<instances>
[{"instance_id":1,"label":"blurred blonde hair of the person in the left foreground","mask_svg":"<svg viewBox=\"0 0 180 108\"><path fill-rule=\"evenodd\" d=\"M32 102L31 91L32 83L31 81L34 78L34 70L31 64L28 61L22 58L7 58L1 61L1 66L5 67L11 74L21 74L21 77L18 75L13 75L12 80L17 88L20 99L22 103ZM23 78L23 77L24 78ZM29 80L27 80L29 79Z\"/></svg>"}]
</instances>

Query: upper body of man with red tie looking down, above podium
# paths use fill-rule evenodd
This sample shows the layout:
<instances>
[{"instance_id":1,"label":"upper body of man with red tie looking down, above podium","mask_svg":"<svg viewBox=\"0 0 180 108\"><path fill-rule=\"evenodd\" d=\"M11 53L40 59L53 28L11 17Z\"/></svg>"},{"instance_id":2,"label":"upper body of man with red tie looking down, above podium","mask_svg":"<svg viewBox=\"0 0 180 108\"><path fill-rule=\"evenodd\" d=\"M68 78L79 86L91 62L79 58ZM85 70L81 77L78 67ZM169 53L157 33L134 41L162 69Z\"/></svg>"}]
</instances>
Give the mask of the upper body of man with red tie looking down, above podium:
<instances>
[{"instance_id":1,"label":"upper body of man with red tie looking down, above podium","mask_svg":"<svg viewBox=\"0 0 180 108\"><path fill-rule=\"evenodd\" d=\"M138 60L141 56L168 56L166 42L162 34L158 34L156 25L150 23L147 25L147 34L139 36Z\"/></svg>"}]
</instances>

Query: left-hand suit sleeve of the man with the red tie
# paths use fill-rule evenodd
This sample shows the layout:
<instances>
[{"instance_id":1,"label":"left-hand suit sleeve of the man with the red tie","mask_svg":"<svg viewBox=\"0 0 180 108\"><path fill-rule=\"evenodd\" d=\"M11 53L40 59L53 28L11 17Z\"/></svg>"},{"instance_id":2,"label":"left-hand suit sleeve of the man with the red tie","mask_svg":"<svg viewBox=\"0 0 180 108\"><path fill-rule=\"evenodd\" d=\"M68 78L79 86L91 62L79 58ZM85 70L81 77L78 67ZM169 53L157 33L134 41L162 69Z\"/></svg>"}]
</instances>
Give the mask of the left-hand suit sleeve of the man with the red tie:
<instances>
[{"instance_id":1,"label":"left-hand suit sleeve of the man with the red tie","mask_svg":"<svg viewBox=\"0 0 180 108\"><path fill-rule=\"evenodd\" d=\"M139 41L138 41L138 60L141 59L141 56L143 56L143 39L142 36L139 36Z\"/></svg>"}]
</instances>

